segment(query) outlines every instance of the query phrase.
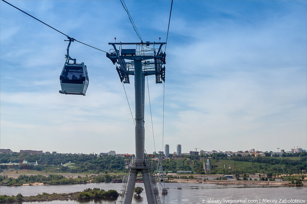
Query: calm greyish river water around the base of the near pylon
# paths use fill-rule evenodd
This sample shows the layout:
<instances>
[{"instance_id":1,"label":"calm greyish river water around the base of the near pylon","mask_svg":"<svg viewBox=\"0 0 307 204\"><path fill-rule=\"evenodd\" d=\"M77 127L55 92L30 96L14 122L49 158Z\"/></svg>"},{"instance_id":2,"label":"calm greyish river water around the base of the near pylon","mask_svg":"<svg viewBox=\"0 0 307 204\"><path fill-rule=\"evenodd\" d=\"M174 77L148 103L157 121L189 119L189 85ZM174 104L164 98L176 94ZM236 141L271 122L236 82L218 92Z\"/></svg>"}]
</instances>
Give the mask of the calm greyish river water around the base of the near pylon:
<instances>
[{"instance_id":1,"label":"calm greyish river water around the base of the near pylon","mask_svg":"<svg viewBox=\"0 0 307 204\"><path fill-rule=\"evenodd\" d=\"M144 188L143 183L136 183L135 186ZM98 187L104 190L114 189L120 191L120 183L92 183L92 184L76 184L61 186L16 186L16 187L0 187L1 195L17 195L21 193L24 196L37 195L42 192L46 193L70 193L83 191L85 188ZM306 187L286 187L286 186L263 186L263 185L219 185L219 184L192 184L192 183L166 183L168 194L161 195L161 185L158 186L161 203L231 203L227 199L247 199L252 203L271 203L272 199L277 199L277 203L307 203ZM282 200L279 200L282 199ZM292 199L292 200L291 200ZM301 201L295 201L295 199ZM232 201L234 202L234 201ZM241 201L241 203L244 201ZM68 201L49 201L49 202L23 202L23 203L75 203L80 202L74 200ZM85 201L82 203L114 203L110 200ZM116 200L117 203L117 200ZM134 196L132 203L147 203L145 191L140 198ZM218 202L220 203L220 202ZM275 202L274 202L275 203Z\"/></svg>"}]
</instances>

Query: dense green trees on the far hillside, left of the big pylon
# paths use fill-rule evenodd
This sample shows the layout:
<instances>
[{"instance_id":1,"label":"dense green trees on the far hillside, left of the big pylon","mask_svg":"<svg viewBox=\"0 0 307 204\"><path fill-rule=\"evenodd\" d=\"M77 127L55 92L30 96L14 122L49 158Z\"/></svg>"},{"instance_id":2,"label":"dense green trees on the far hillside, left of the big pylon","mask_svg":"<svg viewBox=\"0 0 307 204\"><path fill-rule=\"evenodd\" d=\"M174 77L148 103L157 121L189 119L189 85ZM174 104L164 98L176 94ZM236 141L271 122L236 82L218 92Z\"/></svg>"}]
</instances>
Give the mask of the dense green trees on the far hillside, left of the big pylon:
<instances>
[{"instance_id":1,"label":"dense green trees on the far hillside, left of the big pylon","mask_svg":"<svg viewBox=\"0 0 307 204\"><path fill-rule=\"evenodd\" d=\"M36 162L37 166L29 164L19 165L1 165L0 169L12 168L18 169L33 169L37 171L49 170L49 167L59 166L59 169L53 169L52 172L62 173L116 173L116 172L127 172L124 168L124 158L108 156L108 157L97 157L95 155L74 155L74 154L20 154L13 153L1 154L1 163L18 163L20 161L27 160L28 162ZM68 162L74 163L72 167L62 166L61 163L65 164Z\"/></svg>"}]
</instances>

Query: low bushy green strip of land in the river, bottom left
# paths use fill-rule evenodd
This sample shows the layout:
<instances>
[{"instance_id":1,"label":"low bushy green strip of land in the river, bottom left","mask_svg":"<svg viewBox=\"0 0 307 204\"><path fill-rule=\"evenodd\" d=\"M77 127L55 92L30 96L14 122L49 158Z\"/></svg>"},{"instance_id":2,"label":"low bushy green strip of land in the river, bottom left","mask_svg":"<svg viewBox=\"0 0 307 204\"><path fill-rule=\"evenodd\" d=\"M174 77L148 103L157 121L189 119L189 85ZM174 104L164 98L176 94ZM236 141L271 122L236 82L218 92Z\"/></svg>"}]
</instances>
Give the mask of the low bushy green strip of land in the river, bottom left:
<instances>
[{"instance_id":1,"label":"low bushy green strip of land in the river, bottom left","mask_svg":"<svg viewBox=\"0 0 307 204\"><path fill-rule=\"evenodd\" d=\"M112 199L115 200L119 196L119 193L115 190L105 191L100 188L87 188L82 192L74 192L74 193L42 193L38 195L32 196L22 196L20 193L16 196L8 196L1 195L0 202L1 203L13 203L13 202L36 202L36 201L52 201L52 200L83 200L83 199Z\"/></svg>"}]
</instances>

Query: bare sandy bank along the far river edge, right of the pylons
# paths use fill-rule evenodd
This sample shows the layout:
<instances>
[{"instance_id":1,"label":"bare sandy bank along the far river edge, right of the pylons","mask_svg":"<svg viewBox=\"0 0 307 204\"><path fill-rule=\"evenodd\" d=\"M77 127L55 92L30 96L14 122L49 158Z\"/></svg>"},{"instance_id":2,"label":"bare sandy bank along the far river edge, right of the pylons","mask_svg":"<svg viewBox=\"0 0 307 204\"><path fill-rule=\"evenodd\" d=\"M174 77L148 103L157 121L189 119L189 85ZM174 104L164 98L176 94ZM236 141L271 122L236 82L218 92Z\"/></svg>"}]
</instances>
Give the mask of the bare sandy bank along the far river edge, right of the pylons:
<instances>
[{"instance_id":1,"label":"bare sandy bank along the far river edge, right of the pylons","mask_svg":"<svg viewBox=\"0 0 307 204\"><path fill-rule=\"evenodd\" d=\"M197 180L197 179L172 179L169 183L202 183L202 184L225 184L225 185L289 185L289 181L254 181L254 180ZM303 182L307 186L307 182Z\"/></svg>"}]
</instances>

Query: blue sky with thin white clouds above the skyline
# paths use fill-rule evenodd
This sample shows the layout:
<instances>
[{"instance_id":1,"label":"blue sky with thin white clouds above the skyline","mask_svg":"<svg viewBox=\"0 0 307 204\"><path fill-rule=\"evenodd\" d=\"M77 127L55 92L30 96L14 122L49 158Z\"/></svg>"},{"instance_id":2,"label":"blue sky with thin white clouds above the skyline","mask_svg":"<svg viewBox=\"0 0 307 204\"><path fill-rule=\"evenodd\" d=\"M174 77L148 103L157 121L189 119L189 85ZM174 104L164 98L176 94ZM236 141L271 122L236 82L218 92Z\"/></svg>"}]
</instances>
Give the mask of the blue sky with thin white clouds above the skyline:
<instances>
[{"instance_id":1,"label":"blue sky with thin white clouds above the skyline","mask_svg":"<svg viewBox=\"0 0 307 204\"><path fill-rule=\"evenodd\" d=\"M8 2L107 52L114 37L140 41L120 1ZM171 1L125 3L143 41L165 42ZM174 1L164 134L163 84L149 76L146 152L306 149L306 9L306 1ZM87 65L89 86L86 96L59 93L65 39L0 2L0 147L133 154L133 119L104 52L73 42L69 54ZM134 114L133 76L125 89Z\"/></svg>"}]
</instances>

